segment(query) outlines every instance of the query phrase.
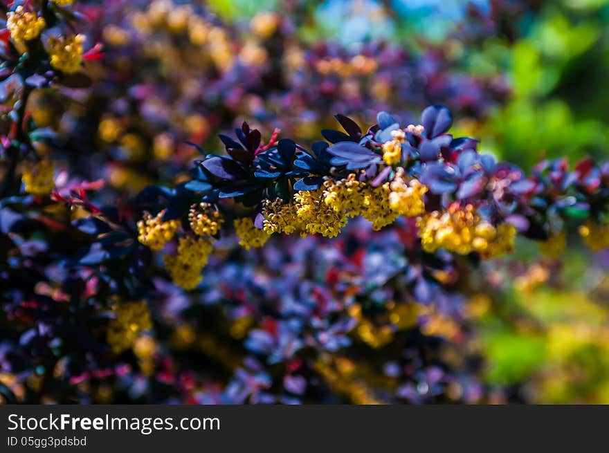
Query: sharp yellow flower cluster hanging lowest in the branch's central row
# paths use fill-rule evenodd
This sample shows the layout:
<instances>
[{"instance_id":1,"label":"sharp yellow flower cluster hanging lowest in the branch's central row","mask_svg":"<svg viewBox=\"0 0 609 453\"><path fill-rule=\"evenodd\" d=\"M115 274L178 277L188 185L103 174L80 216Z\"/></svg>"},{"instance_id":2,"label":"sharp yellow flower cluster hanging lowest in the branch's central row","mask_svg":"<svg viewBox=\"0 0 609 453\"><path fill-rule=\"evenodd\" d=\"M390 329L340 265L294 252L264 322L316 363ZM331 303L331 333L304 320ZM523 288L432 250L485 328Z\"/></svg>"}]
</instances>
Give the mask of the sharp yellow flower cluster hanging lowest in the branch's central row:
<instances>
[{"instance_id":1,"label":"sharp yellow flower cluster hanging lowest in the branch's central row","mask_svg":"<svg viewBox=\"0 0 609 453\"><path fill-rule=\"evenodd\" d=\"M294 194L296 214L302 221L305 232L321 234L325 237L336 237L341 228L347 225L347 214L337 212L325 203L325 187L316 190L301 190Z\"/></svg>"}]
</instances>

